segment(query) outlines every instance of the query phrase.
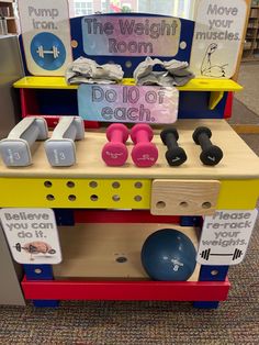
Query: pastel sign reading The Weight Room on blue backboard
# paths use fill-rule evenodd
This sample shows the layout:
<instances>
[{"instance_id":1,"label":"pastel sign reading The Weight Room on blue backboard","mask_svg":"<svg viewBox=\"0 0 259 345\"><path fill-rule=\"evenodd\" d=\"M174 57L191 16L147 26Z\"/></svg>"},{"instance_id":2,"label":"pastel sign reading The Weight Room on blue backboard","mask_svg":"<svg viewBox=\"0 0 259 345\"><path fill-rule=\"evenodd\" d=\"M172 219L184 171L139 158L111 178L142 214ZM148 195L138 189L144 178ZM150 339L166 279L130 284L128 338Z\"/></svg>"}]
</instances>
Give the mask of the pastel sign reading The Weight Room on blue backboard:
<instances>
[{"instance_id":1,"label":"pastel sign reading The Weight Room on blue backboard","mask_svg":"<svg viewBox=\"0 0 259 345\"><path fill-rule=\"evenodd\" d=\"M83 51L88 55L174 56L181 21L167 16L86 16Z\"/></svg>"}]
</instances>

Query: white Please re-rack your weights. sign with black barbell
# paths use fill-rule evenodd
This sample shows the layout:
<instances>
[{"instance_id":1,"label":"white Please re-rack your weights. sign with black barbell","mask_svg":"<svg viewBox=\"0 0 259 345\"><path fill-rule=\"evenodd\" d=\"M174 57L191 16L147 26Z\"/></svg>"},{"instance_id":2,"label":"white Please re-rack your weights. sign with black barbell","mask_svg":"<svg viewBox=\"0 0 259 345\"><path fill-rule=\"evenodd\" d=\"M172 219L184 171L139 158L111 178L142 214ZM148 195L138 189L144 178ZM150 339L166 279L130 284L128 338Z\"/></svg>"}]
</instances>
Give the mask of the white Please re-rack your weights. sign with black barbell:
<instances>
[{"instance_id":1,"label":"white Please re-rack your weights. sign with black barbell","mask_svg":"<svg viewBox=\"0 0 259 345\"><path fill-rule=\"evenodd\" d=\"M196 261L202 265L240 264L245 257L257 214L257 210L221 210L213 215L206 215Z\"/></svg>"}]
</instances>

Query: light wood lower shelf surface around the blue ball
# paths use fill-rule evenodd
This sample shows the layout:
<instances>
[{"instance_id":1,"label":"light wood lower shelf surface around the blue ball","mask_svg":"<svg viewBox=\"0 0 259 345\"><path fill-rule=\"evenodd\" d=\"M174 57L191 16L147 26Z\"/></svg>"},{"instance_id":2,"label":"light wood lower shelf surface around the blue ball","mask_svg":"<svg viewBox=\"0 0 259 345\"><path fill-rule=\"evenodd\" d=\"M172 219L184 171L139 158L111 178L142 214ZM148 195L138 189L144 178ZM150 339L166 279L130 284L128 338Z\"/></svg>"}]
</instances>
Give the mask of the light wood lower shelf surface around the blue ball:
<instances>
[{"instance_id":1,"label":"light wood lower shelf surface around the blue ball","mask_svg":"<svg viewBox=\"0 0 259 345\"><path fill-rule=\"evenodd\" d=\"M60 226L63 263L53 266L55 280L149 280L140 252L145 240L160 229L185 234L198 248L200 230L176 224L111 223ZM36 264L36 261L35 261ZM196 264L188 281L198 281Z\"/></svg>"}]
</instances>

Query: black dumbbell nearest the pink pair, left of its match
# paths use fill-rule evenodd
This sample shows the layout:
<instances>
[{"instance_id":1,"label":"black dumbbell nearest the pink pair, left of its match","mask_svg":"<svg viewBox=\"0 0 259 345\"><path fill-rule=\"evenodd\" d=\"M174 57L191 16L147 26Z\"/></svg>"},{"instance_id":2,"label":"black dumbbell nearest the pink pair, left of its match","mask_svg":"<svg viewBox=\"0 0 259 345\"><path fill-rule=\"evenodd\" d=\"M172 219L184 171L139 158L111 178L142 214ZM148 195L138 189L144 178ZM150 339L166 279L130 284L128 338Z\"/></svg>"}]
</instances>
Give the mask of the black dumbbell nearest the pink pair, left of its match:
<instances>
[{"instance_id":1,"label":"black dumbbell nearest the pink pair, left of its match","mask_svg":"<svg viewBox=\"0 0 259 345\"><path fill-rule=\"evenodd\" d=\"M162 143L167 146L166 158L170 166L179 166L187 160L187 154L178 146L179 134L176 129L166 129L160 133Z\"/></svg>"}]
</instances>

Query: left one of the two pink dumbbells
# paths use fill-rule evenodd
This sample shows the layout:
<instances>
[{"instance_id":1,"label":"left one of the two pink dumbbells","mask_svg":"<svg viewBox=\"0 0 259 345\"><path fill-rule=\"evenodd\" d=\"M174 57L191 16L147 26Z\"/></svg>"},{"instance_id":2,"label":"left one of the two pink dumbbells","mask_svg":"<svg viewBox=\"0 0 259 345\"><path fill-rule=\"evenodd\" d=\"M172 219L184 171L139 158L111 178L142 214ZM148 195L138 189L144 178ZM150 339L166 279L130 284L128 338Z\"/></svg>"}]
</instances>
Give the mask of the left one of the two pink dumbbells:
<instances>
[{"instance_id":1,"label":"left one of the two pink dumbbells","mask_svg":"<svg viewBox=\"0 0 259 345\"><path fill-rule=\"evenodd\" d=\"M127 160L128 129L122 123L113 123L106 130L106 143L102 149L102 159L106 165L120 167Z\"/></svg>"}]
</instances>

